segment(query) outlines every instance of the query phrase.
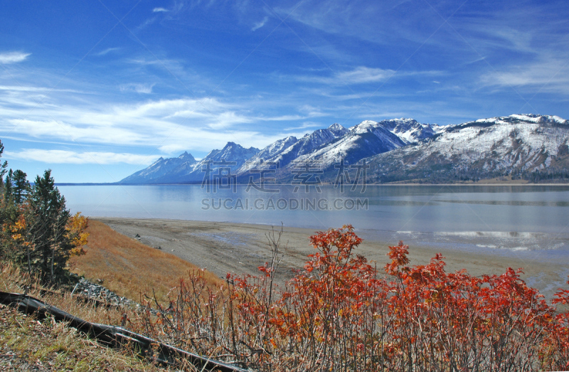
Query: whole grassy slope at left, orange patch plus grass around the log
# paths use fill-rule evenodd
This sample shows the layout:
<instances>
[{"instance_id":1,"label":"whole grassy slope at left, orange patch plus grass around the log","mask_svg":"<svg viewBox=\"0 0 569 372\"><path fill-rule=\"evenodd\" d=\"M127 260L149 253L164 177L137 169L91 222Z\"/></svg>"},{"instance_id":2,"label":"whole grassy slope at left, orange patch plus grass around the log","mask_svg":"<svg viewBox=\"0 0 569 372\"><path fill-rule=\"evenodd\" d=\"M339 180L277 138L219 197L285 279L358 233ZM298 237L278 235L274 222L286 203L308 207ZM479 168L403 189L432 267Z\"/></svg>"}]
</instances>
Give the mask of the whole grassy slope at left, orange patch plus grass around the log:
<instances>
[{"instance_id":1,"label":"whole grassy slope at left, orange patch plus grass around the log","mask_svg":"<svg viewBox=\"0 0 569 372\"><path fill-rule=\"evenodd\" d=\"M103 285L117 294L138 300L140 293L164 298L176 287L179 278L198 267L161 250L127 236L107 225L90 221L90 238L86 255L73 257L73 271L87 279L102 279ZM211 284L223 280L206 272ZM29 294L82 319L119 325L122 313L117 309L95 308L75 302L69 294L42 295L38 282L31 281ZM6 262L0 262L0 289L23 292L30 279ZM135 320L135 314L129 314ZM137 323L135 321L135 323ZM142 331L140 324L132 324ZM169 368L168 368L169 369ZM175 368L176 369L176 368ZM195 371L186 366L184 371ZM53 321L38 322L11 307L0 304L0 371L164 371L148 361L132 355L132 351L108 349L79 334L65 324Z\"/></svg>"}]
</instances>

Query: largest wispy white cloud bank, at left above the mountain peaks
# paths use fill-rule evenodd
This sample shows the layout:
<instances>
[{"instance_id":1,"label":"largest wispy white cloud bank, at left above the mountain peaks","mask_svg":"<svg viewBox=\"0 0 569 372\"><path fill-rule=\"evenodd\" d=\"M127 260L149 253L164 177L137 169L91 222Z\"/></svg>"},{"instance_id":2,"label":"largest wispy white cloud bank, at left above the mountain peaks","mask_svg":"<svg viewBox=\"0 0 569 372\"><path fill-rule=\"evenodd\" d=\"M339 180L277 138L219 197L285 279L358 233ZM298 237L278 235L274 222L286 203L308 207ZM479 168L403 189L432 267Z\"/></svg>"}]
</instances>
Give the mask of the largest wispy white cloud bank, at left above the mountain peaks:
<instances>
[{"instance_id":1,"label":"largest wispy white cloud bank, at left above the mountain peaks","mask_svg":"<svg viewBox=\"0 0 569 372\"><path fill-rule=\"evenodd\" d=\"M6 102L3 98L0 96L0 132L21 140L144 146L170 153L177 149L207 152L228 141L265 147L277 139L240 125L270 118L250 117L241 107L215 98L149 100L96 109L46 105L45 110L30 112L27 117L27 112L20 110L1 110Z\"/></svg>"}]
</instances>

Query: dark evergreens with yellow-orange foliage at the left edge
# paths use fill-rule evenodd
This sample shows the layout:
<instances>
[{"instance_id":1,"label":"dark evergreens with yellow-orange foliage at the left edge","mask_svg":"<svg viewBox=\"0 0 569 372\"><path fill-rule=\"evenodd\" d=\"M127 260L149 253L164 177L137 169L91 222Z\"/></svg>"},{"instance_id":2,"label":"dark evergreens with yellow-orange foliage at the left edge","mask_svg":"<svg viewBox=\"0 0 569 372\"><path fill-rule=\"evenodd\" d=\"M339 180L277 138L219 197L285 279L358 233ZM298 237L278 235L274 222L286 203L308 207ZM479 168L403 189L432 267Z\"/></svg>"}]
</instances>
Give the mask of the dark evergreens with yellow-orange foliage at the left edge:
<instances>
[{"instance_id":1,"label":"dark evergreens with yellow-orange foliage at the left edge","mask_svg":"<svg viewBox=\"0 0 569 372\"><path fill-rule=\"evenodd\" d=\"M43 282L64 282L69 257L85 253L87 222L65 207L50 169L31 184L24 171L0 164L0 261L14 262Z\"/></svg>"}]
</instances>

